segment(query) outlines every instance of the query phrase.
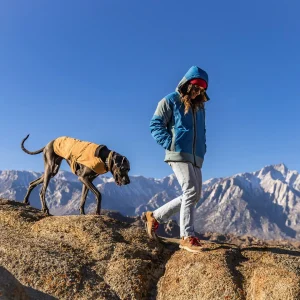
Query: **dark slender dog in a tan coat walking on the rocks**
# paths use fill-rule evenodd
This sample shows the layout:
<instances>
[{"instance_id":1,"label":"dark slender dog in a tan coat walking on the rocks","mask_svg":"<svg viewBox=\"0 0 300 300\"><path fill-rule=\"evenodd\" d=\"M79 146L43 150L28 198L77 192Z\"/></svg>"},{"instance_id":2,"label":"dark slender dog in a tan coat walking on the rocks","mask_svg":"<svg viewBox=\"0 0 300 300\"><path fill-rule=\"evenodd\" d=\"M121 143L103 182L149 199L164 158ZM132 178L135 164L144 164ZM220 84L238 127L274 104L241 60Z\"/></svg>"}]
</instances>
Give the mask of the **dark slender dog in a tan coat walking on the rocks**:
<instances>
[{"instance_id":1,"label":"dark slender dog in a tan coat walking on the rocks","mask_svg":"<svg viewBox=\"0 0 300 300\"><path fill-rule=\"evenodd\" d=\"M45 147L37 151L29 151L24 143L29 134L22 140L22 150L30 155L44 153L44 174L30 182L23 203L29 203L29 196L32 190L39 184L43 184L40 191L40 200L42 212L49 215L49 209L46 204L45 196L49 181L54 177L60 168L63 159L67 161L72 172L78 176L82 182L82 193L80 201L80 214L84 215L84 205L88 191L94 193L97 200L96 215L100 215L102 196L94 186L93 180L100 174L111 172L115 183L119 186L130 183L128 172L130 164L125 156L109 150L105 145L98 145L90 142L81 141L71 137L59 137L50 141Z\"/></svg>"}]
</instances>

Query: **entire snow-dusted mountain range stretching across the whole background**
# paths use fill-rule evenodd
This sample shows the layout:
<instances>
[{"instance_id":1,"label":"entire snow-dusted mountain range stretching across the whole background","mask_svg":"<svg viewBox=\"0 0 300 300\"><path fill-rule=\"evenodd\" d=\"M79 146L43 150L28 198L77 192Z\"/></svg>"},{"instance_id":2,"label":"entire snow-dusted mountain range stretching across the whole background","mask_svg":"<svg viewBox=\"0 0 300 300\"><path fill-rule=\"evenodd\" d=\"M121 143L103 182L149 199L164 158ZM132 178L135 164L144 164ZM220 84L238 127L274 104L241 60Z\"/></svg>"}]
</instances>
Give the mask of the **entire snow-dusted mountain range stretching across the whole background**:
<instances>
[{"instance_id":1,"label":"entire snow-dusted mountain range stretching across the whole background","mask_svg":"<svg viewBox=\"0 0 300 300\"><path fill-rule=\"evenodd\" d=\"M22 201L30 181L41 173L0 171L0 197ZM98 177L94 183L102 193L102 208L124 215L153 210L181 194L172 174L163 179L132 176L131 183L119 187L112 178ZM51 179L47 203L52 214L77 214L82 185L70 172L60 171ZM31 205L40 208L39 188L31 194ZM89 193L86 211L95 208ZM174 216L178 219L178 216ZM198 232L249 234L262 239L300 239L300 174L284 164L257 172L213 178L203 183L197 204Z\"/></svg>"}]
</instances>

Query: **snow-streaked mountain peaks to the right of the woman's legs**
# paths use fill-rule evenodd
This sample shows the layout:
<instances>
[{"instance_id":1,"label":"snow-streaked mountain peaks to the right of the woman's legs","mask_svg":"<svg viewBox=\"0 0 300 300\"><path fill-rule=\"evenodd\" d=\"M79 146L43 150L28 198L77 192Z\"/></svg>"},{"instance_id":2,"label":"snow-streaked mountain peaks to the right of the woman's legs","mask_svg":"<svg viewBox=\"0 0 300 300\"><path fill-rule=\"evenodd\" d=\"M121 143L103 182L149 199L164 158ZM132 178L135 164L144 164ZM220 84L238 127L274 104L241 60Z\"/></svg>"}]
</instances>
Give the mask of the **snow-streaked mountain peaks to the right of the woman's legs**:
<instances>
[{"instance_id":1,"label":"snow-streaked mountain peaks to the right of the woman's legs","mask_svg":"<svg viewBox=\"0 0 300 300\"><path fill-rule=\"evenodd\" d=\"M300 175L284 164L222 178L203 191L196 229L300 239Z\"/></svg>"}]
</instances>

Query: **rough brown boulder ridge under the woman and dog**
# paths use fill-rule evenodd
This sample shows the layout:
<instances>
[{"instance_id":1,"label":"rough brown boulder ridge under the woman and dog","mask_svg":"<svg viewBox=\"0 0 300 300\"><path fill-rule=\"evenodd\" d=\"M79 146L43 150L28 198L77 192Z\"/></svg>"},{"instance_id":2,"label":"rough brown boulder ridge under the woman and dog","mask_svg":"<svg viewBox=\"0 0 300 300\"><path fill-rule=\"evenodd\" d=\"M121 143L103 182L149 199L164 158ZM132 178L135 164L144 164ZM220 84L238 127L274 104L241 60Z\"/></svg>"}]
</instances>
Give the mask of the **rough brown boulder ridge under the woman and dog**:
<instances>
[{"instance_id":1,"label":"rough brown boulder ridge under the woman and dog","mask_svg":"<svg viewBox=\"0 0 300 300\"><path fill-rule=\"evenodd\" d=\"M0 200L0 299L300 299L300 243L207 234L192 254L114 216Z\"/></svg>"}]
</instances>

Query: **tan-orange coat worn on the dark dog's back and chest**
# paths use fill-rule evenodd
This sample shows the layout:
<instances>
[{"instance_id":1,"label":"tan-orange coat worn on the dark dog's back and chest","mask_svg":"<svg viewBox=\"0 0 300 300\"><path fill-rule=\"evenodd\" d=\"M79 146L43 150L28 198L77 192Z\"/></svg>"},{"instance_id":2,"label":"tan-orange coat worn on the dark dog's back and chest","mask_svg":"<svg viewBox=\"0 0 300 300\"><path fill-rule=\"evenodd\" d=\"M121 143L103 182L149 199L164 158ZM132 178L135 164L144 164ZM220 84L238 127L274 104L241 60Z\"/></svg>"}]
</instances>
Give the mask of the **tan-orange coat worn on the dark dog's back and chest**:
<instances>
[{"instance_id":1,"label":"tan-orange coat worn on the dark dog's back and chest","mask_svg":"<svg viewBox=\"0 0 300 300\"><path fill-rule=\"evenodd\" d=\"M76 163L80 163L97 174L107 173L105 163L95 156L99 145L84 142L67 136L57 138L54 143L54 152L71 162L71 170L75 174Z\"/></svg>"}]
</instances>

